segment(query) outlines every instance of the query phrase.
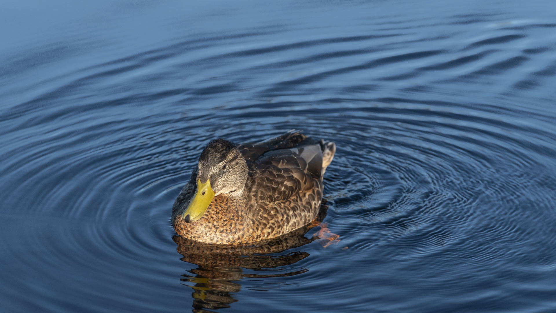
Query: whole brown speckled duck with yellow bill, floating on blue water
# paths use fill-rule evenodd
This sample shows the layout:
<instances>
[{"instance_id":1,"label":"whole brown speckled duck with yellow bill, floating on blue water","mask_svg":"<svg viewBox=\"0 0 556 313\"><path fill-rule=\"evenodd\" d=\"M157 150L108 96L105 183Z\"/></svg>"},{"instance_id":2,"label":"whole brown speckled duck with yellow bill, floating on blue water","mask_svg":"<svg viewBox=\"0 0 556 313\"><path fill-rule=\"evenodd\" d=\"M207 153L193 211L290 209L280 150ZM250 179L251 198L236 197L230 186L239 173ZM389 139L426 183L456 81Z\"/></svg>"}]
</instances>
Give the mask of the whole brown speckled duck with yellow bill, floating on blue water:
<instances>
[{"instance_id":1,"label":"whole brown speckled duck with yellow bill, floating on blue water","mask_svg":"<svg viewBox=\"0 0 556 313\"><path fill-rule=\"evenodd\" d=\"M242 244L280 236L319 213L336 146L289 131L262 143L212 140L172 207L176 233Z\"/></svg>"}]
</instances>

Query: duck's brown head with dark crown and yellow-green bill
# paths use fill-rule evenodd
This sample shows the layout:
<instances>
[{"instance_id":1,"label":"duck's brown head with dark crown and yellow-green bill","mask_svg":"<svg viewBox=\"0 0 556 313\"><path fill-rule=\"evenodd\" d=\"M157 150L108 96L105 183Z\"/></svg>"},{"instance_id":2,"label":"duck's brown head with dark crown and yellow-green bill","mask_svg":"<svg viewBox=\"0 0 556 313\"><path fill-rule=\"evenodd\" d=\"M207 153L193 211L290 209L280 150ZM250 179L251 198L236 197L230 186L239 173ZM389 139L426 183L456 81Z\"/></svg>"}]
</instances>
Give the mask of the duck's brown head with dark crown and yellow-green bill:
<instances>
[{"instance_id":1,"label":"duck's brown head with dark crown and yellow-green bill","mask_svg":"<svg viewBox=\"0 0 556 313\"><path fill-rule=\"evenodd\" d=\"M200 219L212 198L221 193L241 194L247 180L247 164L236 145L225 139L212 140L199 157L197 190L182 214L185 222Z\"/></svg>"}]
</instances>

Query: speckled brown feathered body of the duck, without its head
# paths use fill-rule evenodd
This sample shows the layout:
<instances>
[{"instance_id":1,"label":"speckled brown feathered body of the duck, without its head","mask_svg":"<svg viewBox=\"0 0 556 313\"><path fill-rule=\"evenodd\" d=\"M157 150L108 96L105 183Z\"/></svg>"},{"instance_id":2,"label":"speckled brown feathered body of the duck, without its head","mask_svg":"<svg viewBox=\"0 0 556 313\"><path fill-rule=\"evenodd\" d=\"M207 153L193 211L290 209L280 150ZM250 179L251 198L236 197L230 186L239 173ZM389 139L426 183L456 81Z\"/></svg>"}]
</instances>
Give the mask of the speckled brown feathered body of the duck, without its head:
<instances>
[{"instance_id":1,"label":"speckled brown feathered body of the duck, without its head","mask_svg":"<svg viewBox=\"0 0 556 313\"><path fill-rule=\"evenodd\" d=\"M317 216L334 143L290 132L237 149L247 165L242 192L217 194L200 219L185 222L181 215L195 193L197 167L172 208L176 233L198 242L244 244L281 236Z\"/></svg>"}]
</instances>

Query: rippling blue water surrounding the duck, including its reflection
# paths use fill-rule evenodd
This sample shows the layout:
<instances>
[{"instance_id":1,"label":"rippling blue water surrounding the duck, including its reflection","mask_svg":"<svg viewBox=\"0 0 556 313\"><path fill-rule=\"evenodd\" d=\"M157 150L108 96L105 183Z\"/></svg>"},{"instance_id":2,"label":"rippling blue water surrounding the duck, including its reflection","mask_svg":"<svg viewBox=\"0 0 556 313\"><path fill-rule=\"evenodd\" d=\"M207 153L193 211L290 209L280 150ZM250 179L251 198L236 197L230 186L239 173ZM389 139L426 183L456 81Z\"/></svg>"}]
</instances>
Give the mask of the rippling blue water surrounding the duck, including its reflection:
<instances>
[{"instance_id":1,"label":"rippling blue water surrounding the duck, including its reflection","mask_svg":"<svg viewBox=\"0 0 556 313\"><path fill-rule=\"evenodd\" d=\"M554 311L552 6L3 3L0 310ZM209 140L294 128L339 243L172 238Z\"/></svg>"}]
</instances>

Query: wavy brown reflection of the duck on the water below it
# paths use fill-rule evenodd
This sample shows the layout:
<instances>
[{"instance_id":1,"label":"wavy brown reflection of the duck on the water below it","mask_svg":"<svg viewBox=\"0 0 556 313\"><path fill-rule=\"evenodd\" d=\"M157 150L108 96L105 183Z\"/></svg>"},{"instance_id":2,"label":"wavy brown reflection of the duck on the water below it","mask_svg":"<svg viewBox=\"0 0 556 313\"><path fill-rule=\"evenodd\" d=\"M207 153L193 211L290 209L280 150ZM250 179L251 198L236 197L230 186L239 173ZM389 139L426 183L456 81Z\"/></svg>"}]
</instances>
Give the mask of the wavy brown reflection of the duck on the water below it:
<instances>
[{"instance_id":1,"label":"wavy brown reflection of the duck on the water below it","mask_svg":"<svg viewBox=\"0 0 556 313\"><path fill-rule=\"evenodd\" d=\"M280 272L272 275L244 273L244 268L265 271L264 268L276 268L300 261L309 256L307 252L290 252L276 255L288 249L297 248L319 239L319 236L306 238L304 235L311 228L318 226L326 216L327 206L321 206L319 216L311 224L296 229L284 236L256 242L243 246L204 244L189 239L173 236L177 243L177 252L183 255L180 260L196 264L197 268L182 275L184 282L193 288L193 312L211 312L206 309L230 307L237 300L231 293L239 292L239 282L244 277L257 280L268 277L284 277L301 274L307 269L291 272ZM272 255L270 255L272 253ZM274 271L273 271L274 272Z\"/></svg>"}]
</instances>

